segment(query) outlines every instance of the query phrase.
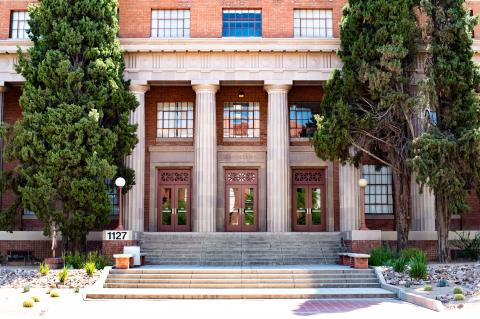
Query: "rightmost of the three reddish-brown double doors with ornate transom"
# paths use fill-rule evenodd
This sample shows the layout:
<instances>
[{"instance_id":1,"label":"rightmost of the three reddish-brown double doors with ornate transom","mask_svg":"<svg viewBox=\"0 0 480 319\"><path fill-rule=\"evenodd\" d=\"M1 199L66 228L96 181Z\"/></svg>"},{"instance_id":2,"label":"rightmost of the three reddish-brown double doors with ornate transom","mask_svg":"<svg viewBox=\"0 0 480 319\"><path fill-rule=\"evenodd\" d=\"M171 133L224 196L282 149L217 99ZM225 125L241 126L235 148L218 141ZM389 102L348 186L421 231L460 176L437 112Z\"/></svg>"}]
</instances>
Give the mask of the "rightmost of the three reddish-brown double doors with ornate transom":
<instances>
[{"instance_id":1,"label":"rightmost of the three reddish-brown double doors with ornate transom","mask_svg":"<svg viewBox=\"0 0 480 319\"><path fill-rule=\"evenodd\" d=\"M324 169L293 171L293 230L326 230L326 183Z\"/></svg>"}]
</instances>

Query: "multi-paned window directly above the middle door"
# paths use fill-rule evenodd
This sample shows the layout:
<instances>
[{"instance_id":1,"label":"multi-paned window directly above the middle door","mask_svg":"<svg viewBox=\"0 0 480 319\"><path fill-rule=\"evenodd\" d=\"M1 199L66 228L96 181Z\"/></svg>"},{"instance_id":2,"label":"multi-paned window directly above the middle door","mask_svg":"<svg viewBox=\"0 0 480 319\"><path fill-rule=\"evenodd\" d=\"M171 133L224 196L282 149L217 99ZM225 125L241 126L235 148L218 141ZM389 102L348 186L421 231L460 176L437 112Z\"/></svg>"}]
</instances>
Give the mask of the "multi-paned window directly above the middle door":
<instances>
[{"instance_id":1,"label":"multi-paned window directly above the middle door","mask_svg":"<svg viewBox=\"0 0 480 319\"><path fill-rule=\"evenodd\" d=\"M223 137L260 137L260 103L225 102L223 109Z\"/></svg>"}]
</instances>

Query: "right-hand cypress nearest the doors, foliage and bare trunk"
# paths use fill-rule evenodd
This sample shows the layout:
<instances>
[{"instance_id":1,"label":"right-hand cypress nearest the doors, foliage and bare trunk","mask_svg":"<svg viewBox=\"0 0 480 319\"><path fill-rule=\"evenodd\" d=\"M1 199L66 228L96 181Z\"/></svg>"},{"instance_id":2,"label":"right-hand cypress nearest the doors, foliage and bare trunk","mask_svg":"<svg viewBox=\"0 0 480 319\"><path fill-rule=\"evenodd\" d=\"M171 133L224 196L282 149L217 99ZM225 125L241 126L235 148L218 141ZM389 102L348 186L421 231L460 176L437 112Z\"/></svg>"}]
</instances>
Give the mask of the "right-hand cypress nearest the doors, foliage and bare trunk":
<instances>
[{"instance_id":1,"label":"right-hand cypress nearest the doors, foliage and bare trunk","mask_svg":"<svg viewBox=\"0 0 480 319\"><path fill-rule=\"evenodd\" d=\"M417 19L413 0L349 0L340 27L343 67L325 87L313 145L325 160L392 168L397 249L408 241L415 102L411 78Z\"/></svg>"}]
</instances>

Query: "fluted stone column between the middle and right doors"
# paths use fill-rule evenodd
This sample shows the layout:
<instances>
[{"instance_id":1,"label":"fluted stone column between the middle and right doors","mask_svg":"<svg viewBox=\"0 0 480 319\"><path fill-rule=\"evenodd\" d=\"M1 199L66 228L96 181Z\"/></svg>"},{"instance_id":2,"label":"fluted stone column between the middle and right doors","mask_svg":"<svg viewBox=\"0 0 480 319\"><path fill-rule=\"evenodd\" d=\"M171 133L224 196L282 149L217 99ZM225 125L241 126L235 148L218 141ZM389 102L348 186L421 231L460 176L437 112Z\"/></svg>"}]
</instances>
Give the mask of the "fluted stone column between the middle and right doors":
<instances>
[{"instance_id":1,"label":"fluted stone column between the middle and right doors","mask_svg":"<svg viewBox=\"0 0 480 319\"><path fill-rule=\"evenodd\" d=\"M288 91L291 82L265 83L267 119L267 231L291 230Z\"/></svg>"}]
</instances>

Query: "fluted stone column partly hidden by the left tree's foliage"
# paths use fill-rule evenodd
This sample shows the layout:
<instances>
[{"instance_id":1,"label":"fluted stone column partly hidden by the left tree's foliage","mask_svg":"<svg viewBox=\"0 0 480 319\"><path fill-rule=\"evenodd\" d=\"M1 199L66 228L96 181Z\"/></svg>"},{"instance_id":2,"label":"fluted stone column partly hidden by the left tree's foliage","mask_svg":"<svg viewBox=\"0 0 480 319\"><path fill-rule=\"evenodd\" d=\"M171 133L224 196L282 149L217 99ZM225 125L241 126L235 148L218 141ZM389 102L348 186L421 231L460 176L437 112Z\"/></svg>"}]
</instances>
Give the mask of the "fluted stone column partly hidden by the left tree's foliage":
<instances>
[{"instance_id":1,"label":"fluted stone column partly hidden by the left tree's foliage","mask_svg":"<svg viewBox=\"0 0 480 319\"><path fill-rule=\"evenodd\" d=\"M137 124L138 143L125 159L127 167L135 171L135 185L125 196L125 229L144 231L145 198L145 93L148 85L130 85L138 101L137 109L130 114L130 123Z\"/></svg>"}]
</instances>

